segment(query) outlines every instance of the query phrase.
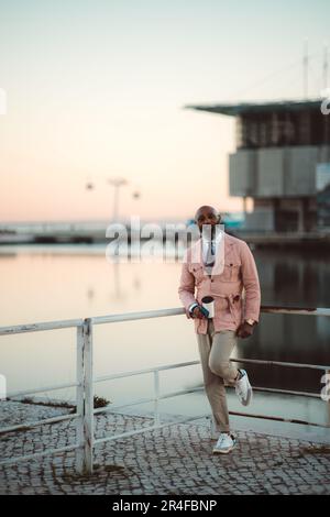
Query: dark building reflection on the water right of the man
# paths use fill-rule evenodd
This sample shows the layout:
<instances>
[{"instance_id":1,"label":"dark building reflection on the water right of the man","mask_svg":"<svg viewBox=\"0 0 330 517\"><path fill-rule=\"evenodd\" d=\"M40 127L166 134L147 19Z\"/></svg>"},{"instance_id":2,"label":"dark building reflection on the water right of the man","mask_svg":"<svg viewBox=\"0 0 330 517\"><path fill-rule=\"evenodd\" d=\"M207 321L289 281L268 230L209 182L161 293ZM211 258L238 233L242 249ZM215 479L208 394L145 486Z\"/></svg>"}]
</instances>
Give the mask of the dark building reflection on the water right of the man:
<instances>
[{"instance_id":1,"label":"dark building reflection on the water right of the man","mask_svg":"<svg viewBox=\"0 0 330 517\"><path fill-rule=\"evenodd\" d=\"M262 304L287 307L330 307L328 261L312 253L254 252ZM327 317L263 314L254 336L241 341L239 356L327 365L330 363L330 320ZM255 385L319 393L322 372L279 366L252 366Z\"/></svg>"}]
</instances>

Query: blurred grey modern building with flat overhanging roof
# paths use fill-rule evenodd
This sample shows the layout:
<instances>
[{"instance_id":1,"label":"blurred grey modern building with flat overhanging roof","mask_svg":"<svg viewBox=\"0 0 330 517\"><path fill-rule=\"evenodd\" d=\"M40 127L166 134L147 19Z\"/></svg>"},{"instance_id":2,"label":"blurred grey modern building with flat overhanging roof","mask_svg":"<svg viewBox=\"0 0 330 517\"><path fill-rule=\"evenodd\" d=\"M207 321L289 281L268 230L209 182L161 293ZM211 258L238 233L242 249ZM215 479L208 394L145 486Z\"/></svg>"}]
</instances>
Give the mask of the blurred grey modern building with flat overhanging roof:
<instances>
[{"instance_id":1,"label":"blurred grey modern building with flat overhanging roof","mask_svg":"<svg viewBox=\"0 0 330 517\"><path fill-rule=\"evenodd\" d=\"M328 179L324 176L330 173L330 114L321 112L321 102L186 107L235 117L237 151L229 156L229 190L231 196L254 200L253 212L246 213L246 230L308 232L327 223L327 217L318 218L317 196L320 164L323 191L324 185L330 186L330 174Z\"/></svg>"}]
</instances>

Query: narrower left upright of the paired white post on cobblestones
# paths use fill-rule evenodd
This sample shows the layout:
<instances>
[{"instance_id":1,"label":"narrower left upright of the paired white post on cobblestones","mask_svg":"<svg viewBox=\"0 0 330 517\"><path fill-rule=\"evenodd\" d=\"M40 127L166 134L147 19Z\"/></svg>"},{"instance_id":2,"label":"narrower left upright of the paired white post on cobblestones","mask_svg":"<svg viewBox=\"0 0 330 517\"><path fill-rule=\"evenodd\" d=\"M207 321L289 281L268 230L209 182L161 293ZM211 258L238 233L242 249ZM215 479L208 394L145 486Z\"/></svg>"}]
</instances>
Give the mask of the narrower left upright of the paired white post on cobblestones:
<instances>
[{"instance_id":1,"label":"narrower left upright of the paired white post on cobblestones","mask_svg":"<svg viewBox=\"0 0 330 517\"><path fill-rule=\"evenodd\" d=\"M84 327L77 327L77 362L76 362L76 441L79 446L76 454L76 469L79 474L84 473Z\"/></svg>"}]
</instances>

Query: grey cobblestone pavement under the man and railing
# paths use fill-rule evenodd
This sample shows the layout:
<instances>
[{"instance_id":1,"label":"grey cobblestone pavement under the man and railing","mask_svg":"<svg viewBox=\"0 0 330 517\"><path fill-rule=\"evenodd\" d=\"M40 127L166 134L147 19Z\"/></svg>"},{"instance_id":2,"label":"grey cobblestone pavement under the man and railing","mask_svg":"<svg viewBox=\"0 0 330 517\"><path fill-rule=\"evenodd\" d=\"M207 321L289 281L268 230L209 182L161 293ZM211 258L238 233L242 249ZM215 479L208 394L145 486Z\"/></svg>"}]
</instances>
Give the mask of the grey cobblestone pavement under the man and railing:
<instances>
[{"instance_id":1,"label":"grey cobblestone pavement under the man and railing","mask_svg":"<svg viewBox=\"0 0 330 517\"><path fill-rule=\"evenodd\" d=\"M58 415L58 409L1 403L0 426L18 424L28 414L33 419L46 418ZM122 432L151 424L143 417L99 415L96 436L101 438L113 429ZM256 432L235 435L238 446L228 455L211 454L215 440L201 420L99 444L95 473L90 476L76 474L74 452L29 460L0 468L0 493L330 494L329 447ZM30 428L0 436L0 457L3 460L31 454L74 441L72 421Z\"/></svg>"}]
</instances>

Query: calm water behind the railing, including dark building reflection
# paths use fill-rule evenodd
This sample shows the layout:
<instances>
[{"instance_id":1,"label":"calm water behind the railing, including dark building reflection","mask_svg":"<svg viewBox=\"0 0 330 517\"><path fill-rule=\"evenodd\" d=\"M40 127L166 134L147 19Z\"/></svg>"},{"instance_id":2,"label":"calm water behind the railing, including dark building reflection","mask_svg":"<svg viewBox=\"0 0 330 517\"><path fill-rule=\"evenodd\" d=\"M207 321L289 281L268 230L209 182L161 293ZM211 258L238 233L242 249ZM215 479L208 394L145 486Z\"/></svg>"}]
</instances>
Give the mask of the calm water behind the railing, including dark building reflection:
<instances>
[{"instance_id":1,"label":"calm water behind the railing, including dark building reflection","mask_svg":"<svg viewBox=\"0 0 330 517\"><path fill-rule=\"evenodd\" d=\"M263 305L330 307L326 255L255 251L254 256ZM2 248L0 326L178 307L180 267L179 262L109 263L101 245ZM8 391L73 381L75 339L74 329L0 337L0 373ZM96 326L94 343L97 376L199 359L194 323L185 316ZM330 321L262 315L253 338L240 340L233 356L329 365ZM319 372L270 366L249 366L249 372L257 386L321 387ZM161 384L164 392L199 385L199 366L163 374ZM145 375L97 384L96 393L118 404L150 396L152 386L152 376ZM73 392L57 396L72 398ZM199 399L194 400L197 407Z\"/></svg>"}]
</instances>

